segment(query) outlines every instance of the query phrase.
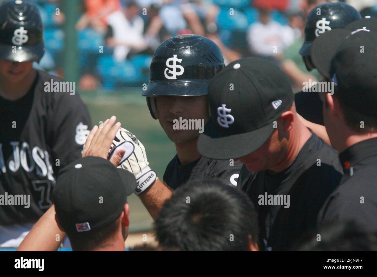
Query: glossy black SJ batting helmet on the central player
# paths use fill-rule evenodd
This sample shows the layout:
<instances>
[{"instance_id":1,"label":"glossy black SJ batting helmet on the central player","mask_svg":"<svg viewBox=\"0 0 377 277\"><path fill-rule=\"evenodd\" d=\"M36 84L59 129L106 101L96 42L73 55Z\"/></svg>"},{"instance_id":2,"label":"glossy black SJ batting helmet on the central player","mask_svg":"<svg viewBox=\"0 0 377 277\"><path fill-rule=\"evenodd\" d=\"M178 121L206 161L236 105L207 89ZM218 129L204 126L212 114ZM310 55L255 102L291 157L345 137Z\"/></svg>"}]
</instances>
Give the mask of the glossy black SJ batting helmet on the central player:
<instances>
[{"instance_id":1,"label":"glossy black SJ batting helmet on the central player","mask_svg":"<svg viewBox=\"0 0 377 277\"><path fill-rule=\"evenodd\" d=\"M157 119L153 96L207 95L211 78L224 66L220 48L200 35L177 35L161 43L153 55L150 81L143 92L152 117Z\"/></svg>"}]
</instances>

